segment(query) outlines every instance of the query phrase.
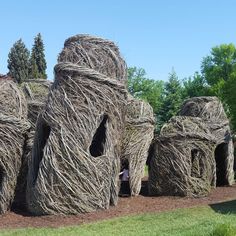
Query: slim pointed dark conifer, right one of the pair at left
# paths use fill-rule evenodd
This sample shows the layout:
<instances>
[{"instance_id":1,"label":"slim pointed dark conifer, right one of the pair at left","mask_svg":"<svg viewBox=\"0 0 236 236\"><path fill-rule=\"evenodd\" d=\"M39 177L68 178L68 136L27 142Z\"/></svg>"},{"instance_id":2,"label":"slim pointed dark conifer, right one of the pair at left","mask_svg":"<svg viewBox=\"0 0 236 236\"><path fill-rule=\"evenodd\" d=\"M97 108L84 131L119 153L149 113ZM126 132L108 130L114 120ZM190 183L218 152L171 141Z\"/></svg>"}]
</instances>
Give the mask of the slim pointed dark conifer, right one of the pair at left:
<instances>
[{"instance_id":1,"label":"slim pointed dark conifer, right one of the pair at left","mask_svg":"<svg viewBox=\"0 0 236 236\"><path fill-rule=\"evenodd\" d=\"M30 78L32 79L46 79L47 63L44 55L44 44L39 33L34 38L34 45L30 57Z\"/></svg>"}]
</instances>

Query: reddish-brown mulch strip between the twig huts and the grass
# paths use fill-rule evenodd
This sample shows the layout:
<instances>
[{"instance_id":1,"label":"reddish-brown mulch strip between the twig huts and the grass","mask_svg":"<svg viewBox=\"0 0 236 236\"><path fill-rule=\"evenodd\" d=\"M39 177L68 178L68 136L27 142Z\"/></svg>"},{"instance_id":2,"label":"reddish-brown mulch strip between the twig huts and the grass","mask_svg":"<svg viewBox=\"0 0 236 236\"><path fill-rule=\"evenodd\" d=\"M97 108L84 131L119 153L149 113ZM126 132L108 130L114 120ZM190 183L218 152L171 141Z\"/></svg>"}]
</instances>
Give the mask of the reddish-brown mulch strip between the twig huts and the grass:
<instances>
[{"instance_id":1,"label":"reddish-brown mulch strip between the twig huts and the grass","mask_svg":"<svg viewBox=\"0 0 236 236\"><path fill-rule=\"evenodd\" d=\"M80 225L114 217L169 211L177 208L209 205L236 199L236 185L218 187L204 198L126 197L119 198L109 210L69 216L31 216L23 212L7 212L0 216L0 228L62 227Z\"/></svg>"}]
</instances>

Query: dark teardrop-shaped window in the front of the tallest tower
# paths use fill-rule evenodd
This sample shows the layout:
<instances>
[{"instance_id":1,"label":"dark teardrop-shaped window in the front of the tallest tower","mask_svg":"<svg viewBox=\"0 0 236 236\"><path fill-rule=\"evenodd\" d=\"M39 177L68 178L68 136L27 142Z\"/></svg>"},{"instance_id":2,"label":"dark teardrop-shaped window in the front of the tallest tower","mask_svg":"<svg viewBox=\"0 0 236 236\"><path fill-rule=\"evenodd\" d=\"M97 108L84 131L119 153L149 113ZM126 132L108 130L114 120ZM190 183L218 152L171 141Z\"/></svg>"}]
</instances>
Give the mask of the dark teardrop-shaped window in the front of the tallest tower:
<instances>
[{"instance_id":1,"label":"dark teardrop-shaped window in the front of the tallest tower","mask_svg":"<svg viewBox=\"0 0 236 236\"><path fill-rule=\"evenodd\" d=\"M104 154L104 146L106 143L106 129L107 129L108 116L104 115L103 119L97 128L92 143L89 147L91 156L98 157Z\"/></svg>"}]
</instances>

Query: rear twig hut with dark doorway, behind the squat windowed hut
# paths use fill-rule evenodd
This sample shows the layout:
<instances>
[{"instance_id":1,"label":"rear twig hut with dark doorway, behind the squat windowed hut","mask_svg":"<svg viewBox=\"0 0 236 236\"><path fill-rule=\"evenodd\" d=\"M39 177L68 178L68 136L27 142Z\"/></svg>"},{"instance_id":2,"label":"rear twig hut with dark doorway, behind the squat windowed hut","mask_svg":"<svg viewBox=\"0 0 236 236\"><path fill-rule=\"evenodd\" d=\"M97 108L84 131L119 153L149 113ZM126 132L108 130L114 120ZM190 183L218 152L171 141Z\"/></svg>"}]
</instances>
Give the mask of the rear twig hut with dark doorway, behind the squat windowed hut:
<instances>
[{"instance_id":1,"label":"rear twig hut with dark doorway, behind the squat windowed hut","mask_svg":"<svg viewBox=\"0 0 236 236\"><path fill-rule=\"evenodd\" d=\"M217 97L194 97L186 100L180 115L200 117L216 139L216 185L232 185L234 183L234 147L229 126L222 103Z\"/></svg>"}]
</instances>

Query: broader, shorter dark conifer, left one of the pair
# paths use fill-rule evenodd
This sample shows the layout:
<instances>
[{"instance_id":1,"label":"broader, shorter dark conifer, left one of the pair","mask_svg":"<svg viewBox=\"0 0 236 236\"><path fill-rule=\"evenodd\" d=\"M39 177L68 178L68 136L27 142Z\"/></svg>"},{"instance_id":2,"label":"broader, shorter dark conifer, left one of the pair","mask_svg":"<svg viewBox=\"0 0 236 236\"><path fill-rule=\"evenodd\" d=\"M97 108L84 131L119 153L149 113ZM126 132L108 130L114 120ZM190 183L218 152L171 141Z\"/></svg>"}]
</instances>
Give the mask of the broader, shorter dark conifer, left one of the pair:
<instances>
[{"instance_id":1,"label":"broader, shorter dark conifer, left one of the pair","mask_svg":"<svg viewBox=\"0 0 236 236\"><path fill-rule=\"evenodd\" d=\"M29 76L29 50L22 39L14 43L8 54L8 69L10 76L21 83Z\"/></svg>"}]
</instances>

